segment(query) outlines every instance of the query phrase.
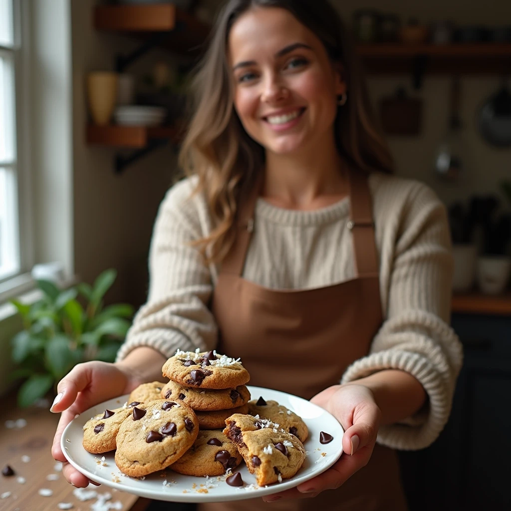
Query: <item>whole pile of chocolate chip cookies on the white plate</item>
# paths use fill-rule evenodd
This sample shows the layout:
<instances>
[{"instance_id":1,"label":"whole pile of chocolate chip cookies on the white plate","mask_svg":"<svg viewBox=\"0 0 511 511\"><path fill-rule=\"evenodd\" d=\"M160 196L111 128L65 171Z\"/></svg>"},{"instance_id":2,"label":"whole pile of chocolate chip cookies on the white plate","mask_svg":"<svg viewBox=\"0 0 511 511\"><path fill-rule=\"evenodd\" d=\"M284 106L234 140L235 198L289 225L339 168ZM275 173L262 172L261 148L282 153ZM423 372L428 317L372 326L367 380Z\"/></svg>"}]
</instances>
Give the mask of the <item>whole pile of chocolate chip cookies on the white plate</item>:
<instances>
[{"instance_id":1,"label":"whole pile of chocolate chip cookies on the white plate","mask_svg":"<svg viewBox=\"0 0 511 511\"><path fill-rule=\"evenodd\" d=\"M259 485L292 477L305 460L301 418L275 401L249 401L239 359L177 350L162 367L169 383L144 383L122 408L91 417L83 446L115 449L119 469L141 477L161 469L218 476L243 460ZM240 474L227 479L241 485Z\"/></svg>"}]
</instances>

